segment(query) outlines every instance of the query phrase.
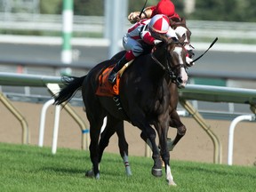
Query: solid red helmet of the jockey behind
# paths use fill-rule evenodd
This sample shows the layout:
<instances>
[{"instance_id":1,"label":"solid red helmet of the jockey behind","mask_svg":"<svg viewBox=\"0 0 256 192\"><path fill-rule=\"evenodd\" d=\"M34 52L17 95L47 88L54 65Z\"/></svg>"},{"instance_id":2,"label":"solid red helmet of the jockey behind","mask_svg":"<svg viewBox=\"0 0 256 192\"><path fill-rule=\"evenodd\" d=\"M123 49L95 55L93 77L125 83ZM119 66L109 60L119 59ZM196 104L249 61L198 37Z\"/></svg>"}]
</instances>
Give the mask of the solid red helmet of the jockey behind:
<instances>
[{"instance_id":1,"label":"solid red helmet of the jockey behind","mask_svg":"<svg viewBox=\"0 0 256 192\"><path fill-rule=\"evenodd\" d=\"M161 0L156 4L156 9L153 11L152 15L164 14L167 17L172 17L175 14L175 6L170 0Z\"/></svg>"}]
</instances>

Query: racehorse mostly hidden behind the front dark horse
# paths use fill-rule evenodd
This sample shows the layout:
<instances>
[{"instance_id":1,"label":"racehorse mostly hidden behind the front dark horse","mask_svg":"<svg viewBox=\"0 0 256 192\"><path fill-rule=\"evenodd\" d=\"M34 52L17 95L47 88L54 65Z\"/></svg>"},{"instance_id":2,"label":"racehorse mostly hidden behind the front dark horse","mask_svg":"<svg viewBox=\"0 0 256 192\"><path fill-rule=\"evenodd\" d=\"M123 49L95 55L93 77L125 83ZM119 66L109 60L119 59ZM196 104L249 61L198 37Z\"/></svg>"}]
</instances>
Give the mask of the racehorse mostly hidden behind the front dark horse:
<instances>
[{"instance_id":1,"label":"racehorse mostly hidden behind the front dark horse","mask_svg":"<svg viewBox=\"0 0 256 192\"><path fill-rule=\"evenodd\" d=\"M190 57L194 56L193 49L194 47L190 44L190 36L191 36L191 31L188 29L186 20L181 18L181 19L170 19L170 23L172 28L175 30L176 35L178 38L182 38L182 36L185 36L185 39L183 41L183 46L187 49L188 54ZM150 51L150 48L149 48ZM118 52L115 56L111 58L111 60L115 60L116 62L120 60L124 56L125 51L123 52ZM114 62L114 61L113 61ZM188 67L191 67L192 65L189 65L187 63ZM178 101L179 101L179 95L178 95L178 89L175 83L170 82L169 83L169 88L171 94L171 102L170 102L170 122L169 126L176 128L177 129L177 134L174 138L174 140L171 140L168 138L168 150L172 151L172 149L177 145L177 143L180 141L180 139L185 135L187 128L184 124L181 123L180 121L180 116L177 113L177 106L178 106ZM104 146L104 148L108 147L108 142L110 137L115 133L113 132L114 130L107 130L105 129L102 134L100 135L100 145ZM118 147L119 147L119 153L122 156L124 160L124 167L125 167L125 172L126 174L132 175L131 167L129 164L128 160L128 143L125 140L125 135L124 135L124 124L120 124L118 128L116 128L116 134L118 137ZM147 136L141 132L140 137L142 140L145 140L145 142L148 144L148 146L152 149L152 145L150 141L147 139ZM88 174L92 174L89 173Z\"/></svg>"}]
</instances>

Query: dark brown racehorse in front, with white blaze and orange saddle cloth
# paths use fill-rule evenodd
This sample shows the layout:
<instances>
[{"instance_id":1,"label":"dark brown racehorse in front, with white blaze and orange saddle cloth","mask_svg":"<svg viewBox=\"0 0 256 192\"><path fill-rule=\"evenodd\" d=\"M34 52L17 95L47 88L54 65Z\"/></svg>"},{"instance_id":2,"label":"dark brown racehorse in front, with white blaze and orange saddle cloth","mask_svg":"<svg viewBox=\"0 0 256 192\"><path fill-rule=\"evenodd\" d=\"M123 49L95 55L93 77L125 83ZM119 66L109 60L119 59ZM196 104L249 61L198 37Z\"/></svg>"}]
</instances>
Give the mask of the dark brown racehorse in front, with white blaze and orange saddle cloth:
<instances>
[{"instance_id":1,"label":"dark brown racehorse in front, with white blaze and orange saddle cloth","mask_svg":"<svg viewBox=\"0 0 256 192\"><path fill-rule=\"evenodd\" d=\"M183 41L184 39L185 37ZM167 149L172 94L168 85L170 82L175 82L176 86L182 88L187 84L188 74L185 69L187 51L182 46L183 42L165 36L162 36L161 40L163 42L157 44L151 54L141 55L134 60L132 66L126 69L120 79L119 99L123 112L120 113L116 108L113 98L95 94L102 70L112 65L113 60L101 62L86 76L66 78L66 86L55 98L54 103L60 105L71 100L75 92L82 88L86 115L90 123L92 172L96 179L100 179L99 165L105 148L104 142L107 142L103 140L99 142L100 128L103 118L107 116L105 138L109 139L118 127L123 125L124 128L124 120L137 126L152 145L154 160L152 174L162 176L163 160L168 184L176 185L173 181L169 164L170 154ZM154 125L158 134L160 151L156 145L156 132L150 124Z\"/></svg>"}]
</instances>

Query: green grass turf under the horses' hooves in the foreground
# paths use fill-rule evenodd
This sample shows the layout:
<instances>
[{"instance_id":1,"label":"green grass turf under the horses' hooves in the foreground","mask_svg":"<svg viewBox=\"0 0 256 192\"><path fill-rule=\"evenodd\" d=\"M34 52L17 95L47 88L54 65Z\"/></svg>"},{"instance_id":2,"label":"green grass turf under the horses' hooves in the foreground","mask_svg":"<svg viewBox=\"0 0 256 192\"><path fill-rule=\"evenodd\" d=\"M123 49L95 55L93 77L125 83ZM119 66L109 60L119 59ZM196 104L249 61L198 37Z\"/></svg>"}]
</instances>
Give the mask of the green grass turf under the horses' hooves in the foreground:
<instances>
[{"instance_id":1,"label":"green grass turf under the horses' hooves in the foreground","mask_svg":"<svg viewBox=\"0 0 256 192\"><path fill-rule=\"evenodd\" d=\"M151 158L130 156L132 176L120 156L104 154L100 180L84 177L91 168L88 151L0 143L0 191L255 191L256 168L171 161L177 187L151 175ZM173 152L174 153L174 152Z\"/></svg>"}]
</instances>

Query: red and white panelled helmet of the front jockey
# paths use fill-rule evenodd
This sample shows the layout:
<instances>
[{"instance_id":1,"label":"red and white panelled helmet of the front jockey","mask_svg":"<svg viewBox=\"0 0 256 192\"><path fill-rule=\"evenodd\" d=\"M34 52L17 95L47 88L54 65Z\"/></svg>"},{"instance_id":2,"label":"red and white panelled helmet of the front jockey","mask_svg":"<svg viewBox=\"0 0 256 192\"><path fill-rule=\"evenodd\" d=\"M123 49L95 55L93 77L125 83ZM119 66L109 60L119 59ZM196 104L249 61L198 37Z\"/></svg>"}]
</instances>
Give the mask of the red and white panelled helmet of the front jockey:
<instances>
[{"instance_id":1,"label":"red and white panelled helmet of the front jockey","mask_svg":"<svg viewBox=\"0 0 256 192\"><path fill-rule=\"evenodd\" d=\"M150 32L166 34L170 26L168 17L164 14L156 14L148 23Z\"/></svg>"}]
</instances>

